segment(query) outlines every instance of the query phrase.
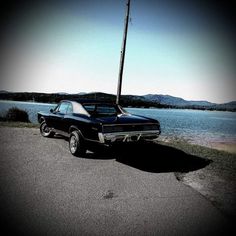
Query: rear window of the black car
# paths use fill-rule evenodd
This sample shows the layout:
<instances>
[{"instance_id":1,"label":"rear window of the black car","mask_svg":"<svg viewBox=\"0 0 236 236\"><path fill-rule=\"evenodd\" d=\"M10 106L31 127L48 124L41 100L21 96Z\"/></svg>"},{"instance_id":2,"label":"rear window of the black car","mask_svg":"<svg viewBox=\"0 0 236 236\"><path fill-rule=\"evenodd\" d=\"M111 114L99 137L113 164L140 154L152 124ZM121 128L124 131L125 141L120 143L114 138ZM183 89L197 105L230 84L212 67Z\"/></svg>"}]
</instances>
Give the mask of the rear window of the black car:
<instances>
[{"instance_id":1,"label":"rear window of the black car","mask_svg":"<svg viewBox=\"0 0 236 236\"><path fill-rule=\"evenodd\" d=\"M117 106L110 104L84 104L83 106L92 116L114 116L121 113Z\"/></svg>"}]
</instances>

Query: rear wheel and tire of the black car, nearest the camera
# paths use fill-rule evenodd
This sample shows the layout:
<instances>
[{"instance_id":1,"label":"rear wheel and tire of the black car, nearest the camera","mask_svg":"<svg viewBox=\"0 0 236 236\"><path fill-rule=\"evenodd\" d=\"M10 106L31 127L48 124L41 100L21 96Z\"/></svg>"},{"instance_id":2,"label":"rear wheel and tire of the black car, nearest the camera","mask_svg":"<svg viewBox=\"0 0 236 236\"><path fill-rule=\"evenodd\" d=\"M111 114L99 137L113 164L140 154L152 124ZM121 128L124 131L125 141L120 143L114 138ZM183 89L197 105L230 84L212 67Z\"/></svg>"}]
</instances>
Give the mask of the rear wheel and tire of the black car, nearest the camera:
<instances>
[{"instance_id":1,"label":"rear wheel and tire of the black car, nearest the camera","mask_svg":"<svg viewBox=\"0 0 236 236\"><path fill-rule=\"evenodd\" d=\"M84 140L78 131L73 131L69 138L69 149L74 156L84 156L86 153L86 148Z\"/></svg>"}]
</instances>

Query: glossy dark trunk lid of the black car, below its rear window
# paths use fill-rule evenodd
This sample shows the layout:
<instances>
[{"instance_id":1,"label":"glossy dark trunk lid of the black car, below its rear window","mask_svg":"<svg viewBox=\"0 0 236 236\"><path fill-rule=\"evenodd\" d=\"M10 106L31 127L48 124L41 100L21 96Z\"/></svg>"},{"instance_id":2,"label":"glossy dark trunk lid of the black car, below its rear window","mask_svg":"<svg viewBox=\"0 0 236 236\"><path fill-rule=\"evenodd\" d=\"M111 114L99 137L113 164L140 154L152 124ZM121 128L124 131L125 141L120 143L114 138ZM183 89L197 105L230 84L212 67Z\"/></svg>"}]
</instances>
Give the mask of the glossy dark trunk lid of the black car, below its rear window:
<instances>
[{"instance_id":1,"label":"glossy dark trunk lid of the black car, below its rear window","mask_svg":"<svg viewBox=\"0 0 236 236\"><path fill-rule=\"evenodd\" d=\"M131 115L131 114L121 114L118 116L108 116L108 117L98 117L94 118L96 121L103 124L134 124L134 123L156 123L157 121L151 118Z\"/></svg>"}]
</instances>

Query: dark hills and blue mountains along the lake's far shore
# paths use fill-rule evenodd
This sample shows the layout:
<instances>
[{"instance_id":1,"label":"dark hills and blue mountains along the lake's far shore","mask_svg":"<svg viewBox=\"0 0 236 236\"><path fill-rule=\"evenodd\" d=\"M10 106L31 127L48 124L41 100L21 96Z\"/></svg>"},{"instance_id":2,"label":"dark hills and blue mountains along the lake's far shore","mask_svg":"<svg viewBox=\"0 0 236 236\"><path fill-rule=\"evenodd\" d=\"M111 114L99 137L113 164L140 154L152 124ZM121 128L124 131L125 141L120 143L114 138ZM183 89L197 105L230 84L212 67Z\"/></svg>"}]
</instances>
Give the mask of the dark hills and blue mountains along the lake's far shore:
<instances>
[{"instance_id":1,"label":"dark hills and blue mountains along the lake's far shore","mask_svg":"<svg viewBox=\"0 0 236 236\"><path fill-rule=\"evenodd\" d=\"M0 100L13 101L34 101L43 103L58 103L65 99L93 99L107 102L115 102L116 96L113 94L92 92L68 94L60 93L13 93L8 91L0 92ZM178 108L178 109L201 109L201 110L220 110L236 111L236 101L224 104L216 104L208 101L187 101L183 98L170 95L147 94L144 96L122 95L121 105L125 107L155 107L155 108Z\"/></svg>"}]
</instances>

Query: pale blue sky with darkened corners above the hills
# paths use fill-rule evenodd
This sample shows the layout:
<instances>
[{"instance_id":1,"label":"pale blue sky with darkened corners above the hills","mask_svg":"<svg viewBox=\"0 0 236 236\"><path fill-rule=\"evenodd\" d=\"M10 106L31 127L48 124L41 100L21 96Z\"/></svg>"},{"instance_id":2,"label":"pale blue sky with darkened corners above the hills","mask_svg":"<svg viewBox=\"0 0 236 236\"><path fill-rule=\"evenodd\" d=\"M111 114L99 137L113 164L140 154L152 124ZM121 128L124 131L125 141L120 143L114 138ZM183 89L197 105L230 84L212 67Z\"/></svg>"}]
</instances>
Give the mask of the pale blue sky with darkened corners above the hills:
<instances>
[{"instance_id":1,"label":"pale blue sky with darkened corners above the hills","mask_svg":"<svg viewBox=\"0 0 236 236\"><path fill-rule=\"evenodd\" d=\"M1 14L0 90L116 94L125 6L9 1ZM223 2L131 0L122 94L235 101L233 15Z\"/></svg>"}]
</instances>

